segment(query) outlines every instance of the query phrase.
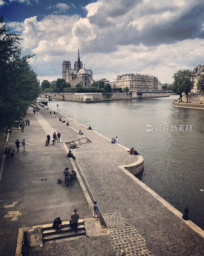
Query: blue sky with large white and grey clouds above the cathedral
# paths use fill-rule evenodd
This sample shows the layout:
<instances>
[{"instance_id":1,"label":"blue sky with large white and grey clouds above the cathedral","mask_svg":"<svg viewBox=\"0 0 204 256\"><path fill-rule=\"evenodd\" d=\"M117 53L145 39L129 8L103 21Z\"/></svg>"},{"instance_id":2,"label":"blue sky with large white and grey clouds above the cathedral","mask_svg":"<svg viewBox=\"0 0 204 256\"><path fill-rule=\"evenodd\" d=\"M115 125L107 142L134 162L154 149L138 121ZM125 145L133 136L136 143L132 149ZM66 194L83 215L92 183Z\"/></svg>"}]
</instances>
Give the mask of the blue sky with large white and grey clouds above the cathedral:
<instances>
[{"instance_id":1,"label":"blue sky with large white and grey clouds above the cathedral","mask_svg":"<svg viewBox=\"0 0 204 256\"><path fill-rule=\"evenodd\" d=\"M203 0L0 0L0 13L22 35L22 53L40 81L62 77L77 46L93 78L124 73L171 83L174 71L204 64Z\"/></svg>"}]
</instances>

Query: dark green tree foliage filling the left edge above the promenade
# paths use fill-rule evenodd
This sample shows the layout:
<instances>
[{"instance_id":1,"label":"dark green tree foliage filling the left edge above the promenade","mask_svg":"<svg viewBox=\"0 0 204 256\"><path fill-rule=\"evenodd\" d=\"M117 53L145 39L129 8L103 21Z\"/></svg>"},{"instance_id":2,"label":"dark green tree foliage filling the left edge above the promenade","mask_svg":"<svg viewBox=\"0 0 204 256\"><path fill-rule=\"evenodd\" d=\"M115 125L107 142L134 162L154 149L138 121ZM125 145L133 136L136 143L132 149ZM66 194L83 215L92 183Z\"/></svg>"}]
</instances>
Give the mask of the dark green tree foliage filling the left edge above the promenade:
<instances>
[{"instance_id":1,"label":"dark green tree foliage filling the left edge above the promenade","mask_svg":"<svg viewBox=\"0 0 204 256\"><path fill-rule=\"evenodd\" d=\"M3 16L0 23L3 24ZM1 130L15 121L23 122L27 108L40 93L37 75L28 62L34 55L21 57L20 35L9 31L5 24L0 28Z\"/></svg>"}]
</instances>

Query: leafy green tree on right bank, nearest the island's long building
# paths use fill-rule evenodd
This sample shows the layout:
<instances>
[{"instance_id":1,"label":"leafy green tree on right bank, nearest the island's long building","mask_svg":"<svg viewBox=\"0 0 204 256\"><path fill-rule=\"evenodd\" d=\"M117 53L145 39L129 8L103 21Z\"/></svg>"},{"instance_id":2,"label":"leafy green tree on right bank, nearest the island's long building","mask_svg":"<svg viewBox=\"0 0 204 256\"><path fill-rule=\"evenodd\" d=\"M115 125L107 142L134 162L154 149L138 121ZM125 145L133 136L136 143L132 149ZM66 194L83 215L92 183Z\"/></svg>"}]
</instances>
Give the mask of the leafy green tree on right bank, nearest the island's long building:
<instances>
[{"instance_id":1,"label":"leafy green tree on right bank, nearest the island's long building","mask_svg":"<svg viewBox=\"0 0 204 256\"><path fill-rule=\"evenodd\" d=\"M172 76L174 82L171 86L171 90L175 93L179 93L182 101L182 93L185 92L188 102L188 93L193 88L194 81L191 80L193 72L189 69L179 69Z\"/></svg>"}]
</instances>

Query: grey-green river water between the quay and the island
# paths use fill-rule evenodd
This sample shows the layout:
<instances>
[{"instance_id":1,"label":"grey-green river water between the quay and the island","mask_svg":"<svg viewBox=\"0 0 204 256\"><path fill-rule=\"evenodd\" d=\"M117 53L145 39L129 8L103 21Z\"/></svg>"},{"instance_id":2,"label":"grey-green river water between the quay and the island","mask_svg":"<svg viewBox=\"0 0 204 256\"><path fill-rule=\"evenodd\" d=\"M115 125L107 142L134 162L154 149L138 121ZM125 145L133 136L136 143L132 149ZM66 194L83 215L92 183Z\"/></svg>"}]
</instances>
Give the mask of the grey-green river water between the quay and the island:
<instances>
[{"instance_id":1,"label":"grey-green river water between the quay and the island","mask_svg":"<svg viewBox=\"0 0 204 256\"><path fill-rule=\"evenodd\" d=\"M144 157L144 172L138 178L180 212L187 207L191 220L204 229L204 111L171 107L176 98L53 100L48 106L57 110L59 104L62 114L134 147ZM146 124L153 130L146 132Z\"/></svg>"}]
</instances>

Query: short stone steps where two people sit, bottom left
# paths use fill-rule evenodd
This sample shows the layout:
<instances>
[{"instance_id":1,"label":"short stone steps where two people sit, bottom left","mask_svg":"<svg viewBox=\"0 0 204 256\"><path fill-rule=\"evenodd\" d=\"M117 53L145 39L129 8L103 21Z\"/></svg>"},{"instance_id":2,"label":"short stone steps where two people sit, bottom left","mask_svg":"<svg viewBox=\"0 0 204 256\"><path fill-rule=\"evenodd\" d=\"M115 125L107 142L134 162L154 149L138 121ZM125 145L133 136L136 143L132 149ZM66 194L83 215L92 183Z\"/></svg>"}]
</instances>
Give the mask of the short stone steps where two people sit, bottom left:
<instances>
[{"instance_id":1,"label":"short stone steps where two people sit, bottom left","mask_svg":"<svg viewBox=\"0 0 204 256\"><path fill-rule=\"evenodd\" d=\"M62 238L69 238L69 240L72 240L86 236L84 220L78 221L78 230L76 234L75 230L69 229L69 227L69 221L62 222L61 228L57 232L55 231L55 229L53 229L52 224L42 225L43 242Z\"/></svg>"}]
</instances>

